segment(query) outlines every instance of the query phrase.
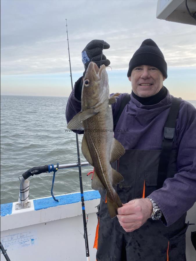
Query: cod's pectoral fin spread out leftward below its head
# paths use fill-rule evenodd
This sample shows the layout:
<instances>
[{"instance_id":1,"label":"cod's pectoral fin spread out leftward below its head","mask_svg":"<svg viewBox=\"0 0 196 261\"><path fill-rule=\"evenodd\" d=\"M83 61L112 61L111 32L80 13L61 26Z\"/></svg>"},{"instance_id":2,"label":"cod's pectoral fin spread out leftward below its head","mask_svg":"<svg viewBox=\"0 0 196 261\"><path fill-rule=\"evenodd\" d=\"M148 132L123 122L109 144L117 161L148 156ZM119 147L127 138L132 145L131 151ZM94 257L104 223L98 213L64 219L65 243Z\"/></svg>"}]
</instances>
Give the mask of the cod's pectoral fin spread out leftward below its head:
<instances>
[{"instance_id":1,"label":"cod's pectoral fin spread out leftward below its head","mask_svg":"<svg viewBox=\"0 0 196 261\"><path fill-rule=\"evenodd\" d=\"M84 130L82 121L92 117L93 115L96 115L98 111L93 108L89 108L84 111L80 111L78 114L76 114L73 119L67 124L67 128L70 130Z\"/></svg>"}]
</instances>

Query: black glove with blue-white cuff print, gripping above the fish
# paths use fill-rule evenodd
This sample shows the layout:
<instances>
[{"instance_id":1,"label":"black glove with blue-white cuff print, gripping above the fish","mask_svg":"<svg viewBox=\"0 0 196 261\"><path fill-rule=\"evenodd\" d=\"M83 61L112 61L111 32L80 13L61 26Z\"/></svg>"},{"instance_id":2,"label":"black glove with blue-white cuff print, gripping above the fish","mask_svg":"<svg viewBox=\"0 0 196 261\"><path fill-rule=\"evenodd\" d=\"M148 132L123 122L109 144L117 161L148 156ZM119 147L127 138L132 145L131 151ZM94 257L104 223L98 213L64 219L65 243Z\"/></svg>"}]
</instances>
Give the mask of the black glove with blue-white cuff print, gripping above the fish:
<instances>
[{"instance_id":1,"label":"black glove with blue-white cuff print, gripping above the fish","mask_svg":"<svg viewBox=\"0 0 196 261\"><path fill-rule=\"evenodd\" d=\"M82 51L82 62L85 68L83 77L91 61L95 62L99 68L102 64L105 64L105 66L110 64L110 61L103 54L103 49L108 49L109 47L110 45L103 40L92 40L87 44Z\"/></svg>"}]
</instances>

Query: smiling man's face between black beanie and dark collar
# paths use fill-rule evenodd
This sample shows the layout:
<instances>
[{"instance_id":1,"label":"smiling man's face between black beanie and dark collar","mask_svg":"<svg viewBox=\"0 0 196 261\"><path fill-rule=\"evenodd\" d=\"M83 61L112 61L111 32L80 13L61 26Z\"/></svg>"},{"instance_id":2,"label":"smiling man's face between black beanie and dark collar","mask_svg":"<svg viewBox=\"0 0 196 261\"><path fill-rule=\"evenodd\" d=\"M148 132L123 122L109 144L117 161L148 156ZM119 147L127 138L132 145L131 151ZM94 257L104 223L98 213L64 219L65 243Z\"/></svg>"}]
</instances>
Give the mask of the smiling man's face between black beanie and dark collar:
<instances>
[{"instance_id":1,"label":"smiling man's face between black beanie and dark collar","mask_svg":"<svg viewBox=\"0 0 196 261\"><path fill-rule=\"evenodd\" d=\"M165 79L159 69L150 65L135 67L129 77L133 92L140 97L150 97L158 93Z\"/></svg>"}]
</instances>

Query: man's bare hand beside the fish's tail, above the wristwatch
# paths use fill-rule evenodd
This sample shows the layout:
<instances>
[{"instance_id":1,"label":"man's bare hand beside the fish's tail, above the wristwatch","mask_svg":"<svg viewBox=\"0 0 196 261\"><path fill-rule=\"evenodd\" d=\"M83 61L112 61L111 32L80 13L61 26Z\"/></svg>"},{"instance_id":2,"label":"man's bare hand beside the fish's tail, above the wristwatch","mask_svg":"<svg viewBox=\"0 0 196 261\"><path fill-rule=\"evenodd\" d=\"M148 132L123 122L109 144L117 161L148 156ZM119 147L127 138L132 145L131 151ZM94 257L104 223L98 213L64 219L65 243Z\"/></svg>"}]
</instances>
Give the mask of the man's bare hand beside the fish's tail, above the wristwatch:
<instances>
[{"instance_id":1,"label":"man's bare hand beside the fish's tail, above the wristwatch","mask_svg":"<svg viewBox=\"0 0 196 261\"><path fill-rule=\"evenodd\" d=\"M126 232L132 232L151 218L152 209L152 203L148 198L131 200L118 208L117 218Z\"/></svg>"}]
</instances>

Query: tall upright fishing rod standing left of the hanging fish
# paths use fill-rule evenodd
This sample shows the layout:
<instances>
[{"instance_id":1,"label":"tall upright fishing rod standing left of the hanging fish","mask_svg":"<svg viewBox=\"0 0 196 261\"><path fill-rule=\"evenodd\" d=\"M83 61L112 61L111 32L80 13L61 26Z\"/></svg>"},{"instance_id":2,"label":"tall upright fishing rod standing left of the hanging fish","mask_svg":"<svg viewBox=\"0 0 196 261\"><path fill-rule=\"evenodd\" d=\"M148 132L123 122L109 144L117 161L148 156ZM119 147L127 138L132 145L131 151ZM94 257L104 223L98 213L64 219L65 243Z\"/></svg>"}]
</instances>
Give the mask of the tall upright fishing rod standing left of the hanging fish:
<instances>
[{"instance_id":1,"label":"tall upright fishing rod standing left of the hanging fish","mask_svg":"<svg viewBox=\"0 0 196 261\"><path fill-rule=\"evenodd\" d=\"M65 20L66 20L66 33L67 33L67 43L68 43L68 53L69 53L69 39L68 39L68 31L67 31L67 19L65 19ZM69 67L70 67L70 77L71 77L71 89L73 90L70 54L69 54ZM87 261L88 261L88 260L90 260L90 258L89 258L89 256L90 256L90 255L89 255L89 242L88 242L87 222L86 222L86 213L85 213L85 205L84 205L84 191L83 191L83 183L82 183L82 169L81 169L81 160L80 160L80 149L79 149L79 142L78 142L78 133L76 133L75 136L76 136L77 154L78 154L78 170L79 170L79 179L80 179L80 193L81 193L81 202L82 202L82 216L83 216L83 224L84 224L84 240L85 240L85 247L86 247L86 257L87 257Z\"/></svg>"}]
</instances>

